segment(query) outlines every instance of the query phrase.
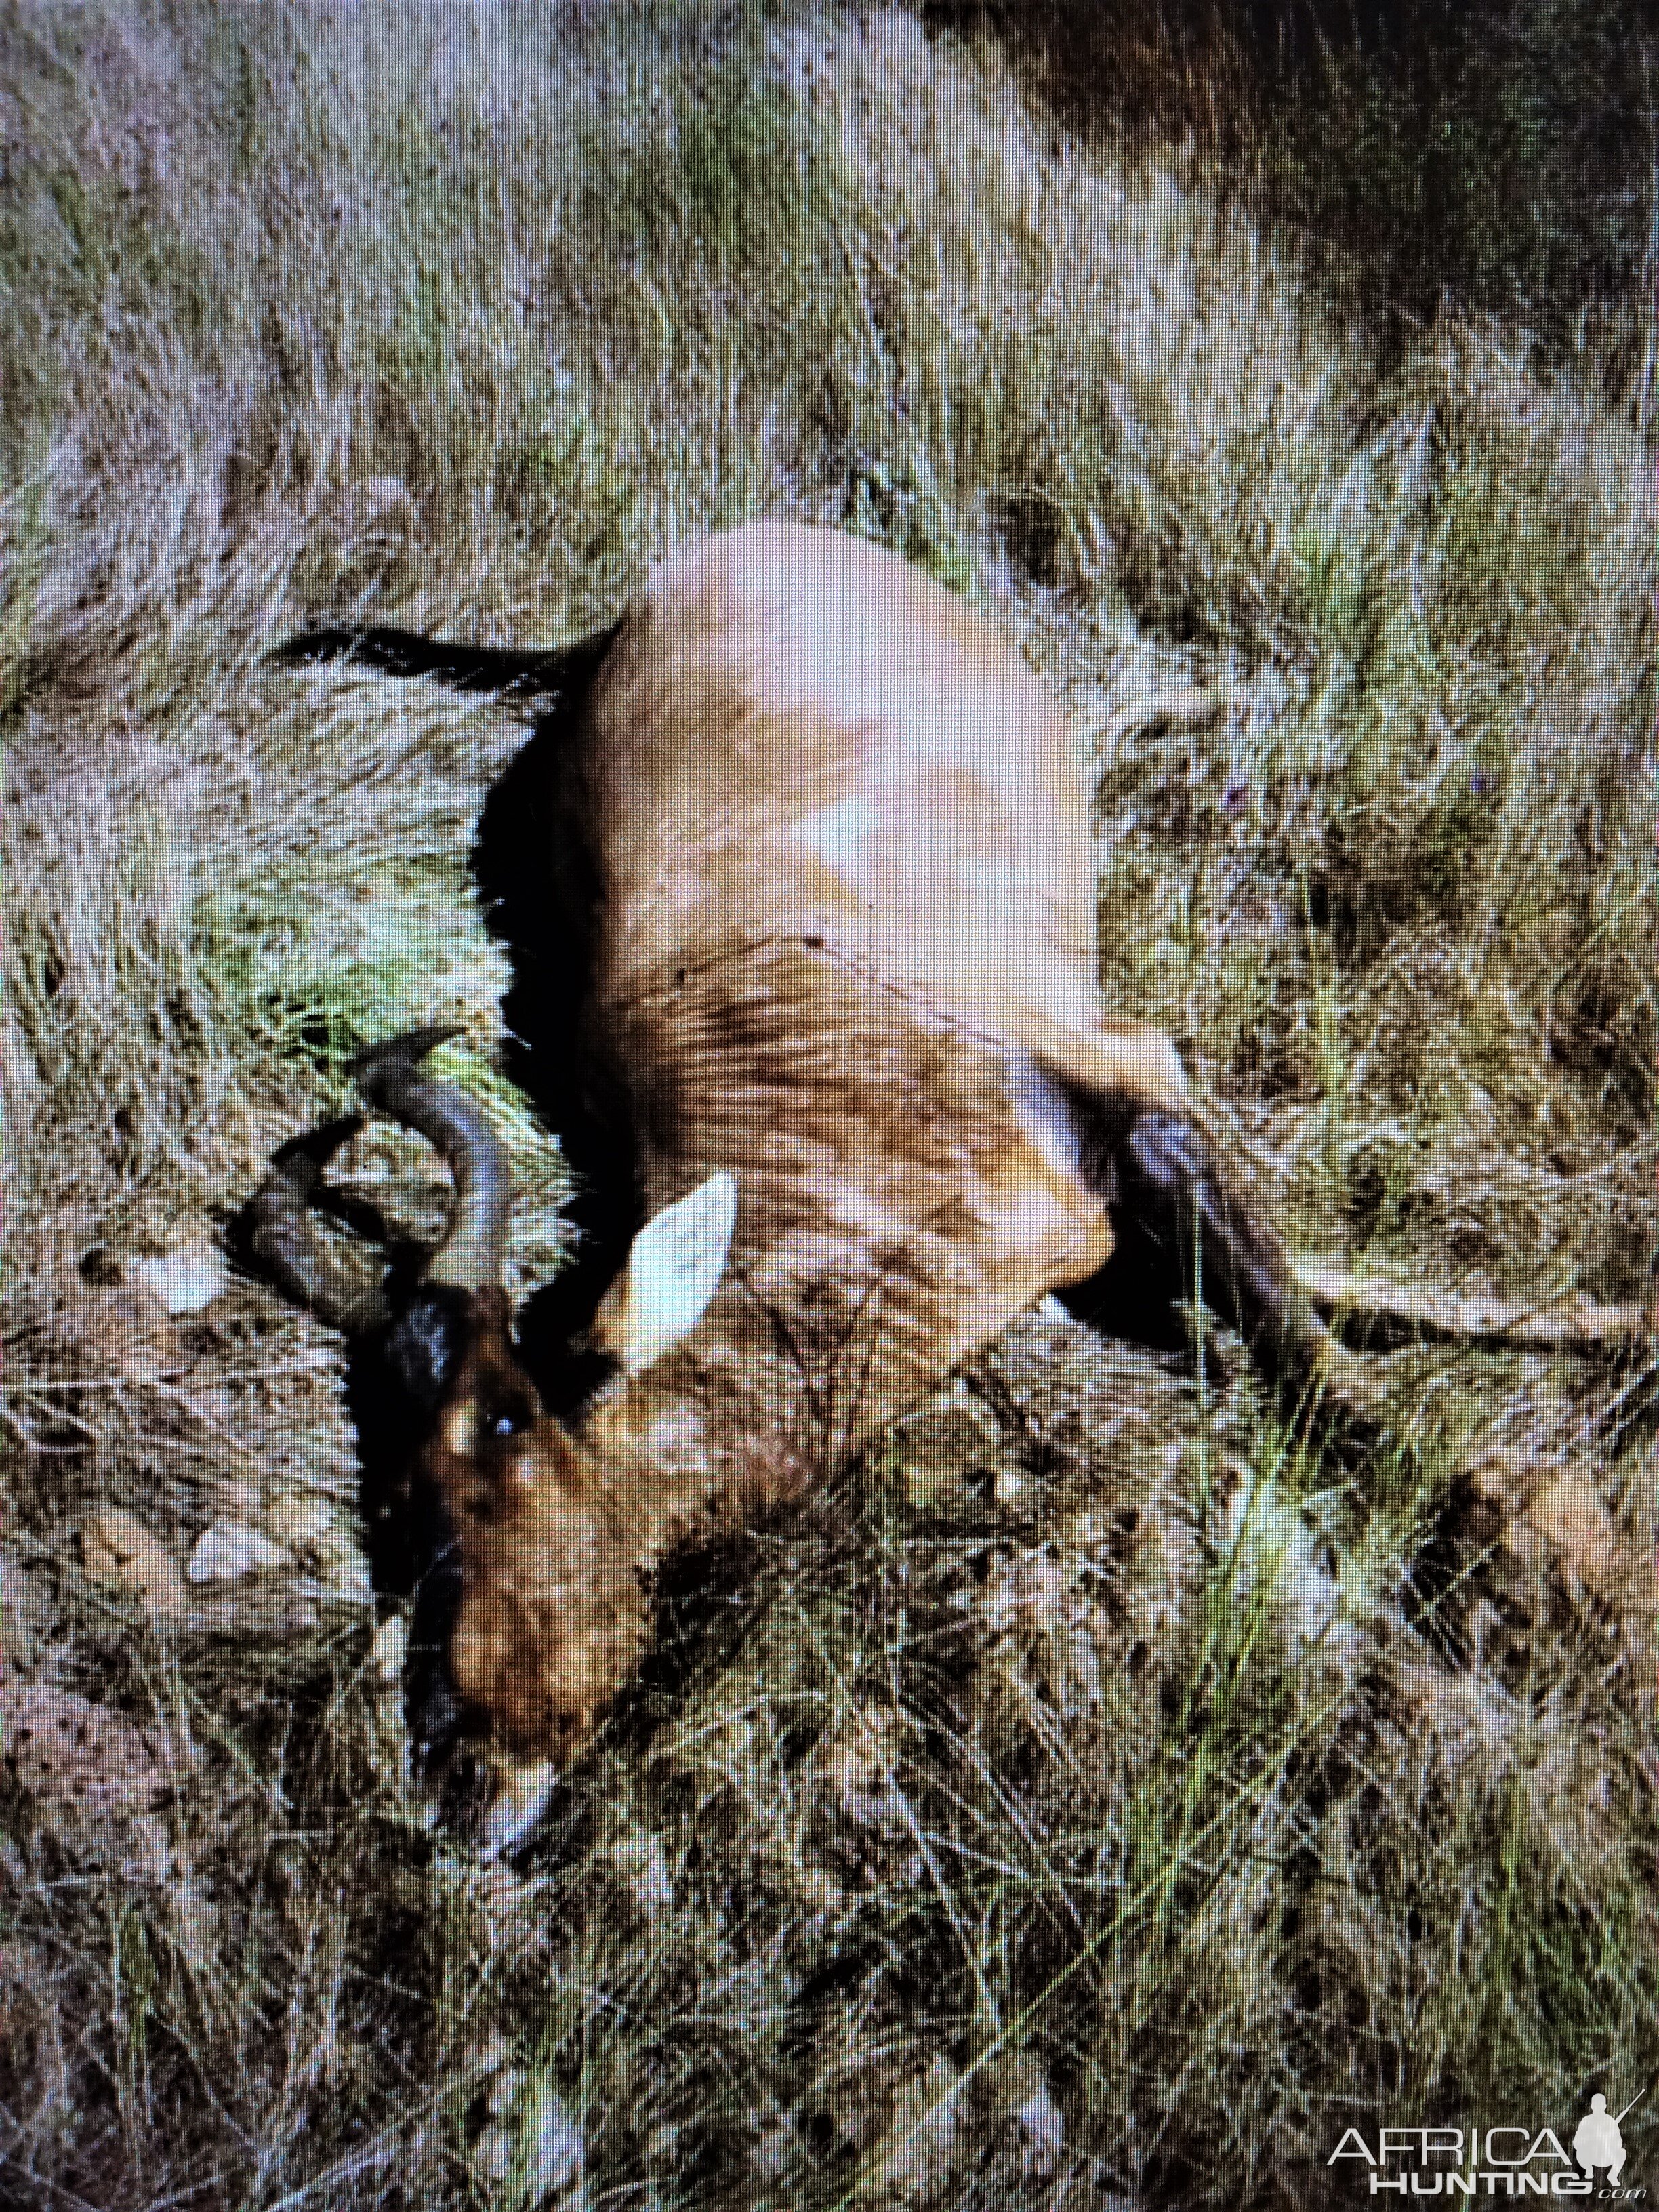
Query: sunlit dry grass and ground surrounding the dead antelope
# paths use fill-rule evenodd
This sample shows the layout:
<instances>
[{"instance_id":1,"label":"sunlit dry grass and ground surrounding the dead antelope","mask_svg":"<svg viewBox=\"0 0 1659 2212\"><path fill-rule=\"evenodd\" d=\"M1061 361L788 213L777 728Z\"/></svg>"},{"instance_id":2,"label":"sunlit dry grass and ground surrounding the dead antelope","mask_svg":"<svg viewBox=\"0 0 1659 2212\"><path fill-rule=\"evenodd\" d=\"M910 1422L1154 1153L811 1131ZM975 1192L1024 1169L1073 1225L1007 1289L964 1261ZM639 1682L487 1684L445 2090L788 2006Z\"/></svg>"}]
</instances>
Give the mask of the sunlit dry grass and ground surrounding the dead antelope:
<instances>
[{"instance_id":1,"label":"sunlit dry grass and ground surrounding the dead antelope","mask_svg":"<svg viewBox=\"0 0 1659 2212\"><path fill-rule=\"evenodd\" d=\"M1106 987L1303 1250L1644 1296L1635 403L1451 316L1378 380L1272 239L905 15L29 9L0 86L0 2194L1298 2205L1349 2121L1621 2106L1650 1369L1376 1354L1409 1451L1345 1480L1225 1345L1033 1318L664 1593L509 1871L405 1785L334 1347L135 1267L349 1037L453 1018L544 1279L465 860L515 730L259 655L580 635L787 511L1066 688ZM431 1208L400 1141L356 1168ZM111 1506L281 1553L146 1599Z\"/></svg>"}]
</instances>

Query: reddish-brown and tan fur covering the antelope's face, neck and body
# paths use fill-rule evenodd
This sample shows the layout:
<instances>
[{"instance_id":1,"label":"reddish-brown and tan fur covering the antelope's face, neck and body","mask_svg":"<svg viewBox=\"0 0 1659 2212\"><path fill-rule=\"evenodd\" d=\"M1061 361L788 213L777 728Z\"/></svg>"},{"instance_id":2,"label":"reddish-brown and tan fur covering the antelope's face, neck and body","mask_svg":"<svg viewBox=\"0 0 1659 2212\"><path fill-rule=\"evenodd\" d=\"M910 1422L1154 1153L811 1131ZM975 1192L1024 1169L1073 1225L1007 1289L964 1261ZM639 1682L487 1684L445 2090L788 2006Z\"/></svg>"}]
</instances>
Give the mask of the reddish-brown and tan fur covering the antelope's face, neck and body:
<instances>
[{"instance_id":1,"label":"reddish-brown and tan fur covering the antelope's face, neck and body","mask_svg":"<svg viewBox=\"0 0 1659 2212\"><path fill-rule=\"evenodd\" d=\"M462 1557L451 1672L504 1750L560 1761L635 1666L664 1553L799 1495L1095 1276L1088 1128L1188 1115L1170 1042L1099 995L1057 703L891 553L792 524L679 553L568 745L602 885L573 1051L622 1102L644 1212L730 1170L737 1230L690 1334L571 1427L491 1433L533 1391L502 1292L476 1296L427 1453ZM1223 1241L1276 1314L1276 1243Z\"/></svg>"}]
</instances>

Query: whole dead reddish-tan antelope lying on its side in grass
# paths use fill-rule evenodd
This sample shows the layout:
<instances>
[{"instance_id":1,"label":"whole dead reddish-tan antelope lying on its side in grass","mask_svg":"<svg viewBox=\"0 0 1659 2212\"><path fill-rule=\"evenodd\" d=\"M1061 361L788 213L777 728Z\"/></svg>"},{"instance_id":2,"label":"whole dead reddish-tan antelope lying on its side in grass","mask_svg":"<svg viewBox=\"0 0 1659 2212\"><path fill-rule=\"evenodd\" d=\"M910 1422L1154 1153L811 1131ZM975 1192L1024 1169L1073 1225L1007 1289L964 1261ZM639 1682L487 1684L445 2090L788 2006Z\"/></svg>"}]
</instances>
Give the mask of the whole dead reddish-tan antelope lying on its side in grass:
<instances>
[{"instance_id":1,"label":"whole dead reddish-tan antelope lying on its side in grass","mask_svg":"<svg viewBox=\"0 0 1659 2212\"><path fill-rule=\"evenodd\" d=\"M418 1066L438 1033L358 1064L456 1179L396 1312L312 1234L345 1124L254 1201L288 1287L383 1332L427 1409L414 1482L453 1531L447 1661L509 1776L498 1843L639 1659L664 1555L821 1482L1046 1292L1144 1334L1197 1279L1287 1400L1318 1389L1325 1334L1175 1048L1102 1002L1071 732L960 599L860 540L754 524L584 646L367 630L281 657L544 701L511 905L588 1190L546 1396L502 1287L495 1137Z\"/></svg>"}]
</instances>

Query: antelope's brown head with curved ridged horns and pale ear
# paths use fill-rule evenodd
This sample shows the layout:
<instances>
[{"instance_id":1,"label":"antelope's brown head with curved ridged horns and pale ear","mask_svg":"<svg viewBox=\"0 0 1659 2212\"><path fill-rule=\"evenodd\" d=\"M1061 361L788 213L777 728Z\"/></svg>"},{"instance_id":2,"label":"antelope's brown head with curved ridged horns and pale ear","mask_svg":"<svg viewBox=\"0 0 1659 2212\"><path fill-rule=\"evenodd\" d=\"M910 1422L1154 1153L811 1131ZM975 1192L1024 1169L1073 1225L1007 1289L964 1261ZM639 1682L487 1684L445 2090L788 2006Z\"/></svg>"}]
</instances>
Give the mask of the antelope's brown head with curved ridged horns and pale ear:
<instances>
[{"instance_id":1,"label":"antelope's brown head with curved ridged horns and pale ear","mask_svg":"<svg viewBox=\"0 0 1659 2212\"><path fill-rule=\"evenodd\" d=\"M484 1747L495 1774L484 1836L500 1851L540 1818L560 1767L644 1650L648 1575L666 1531L648 1509L650 1469L630 1464L637 1425L615 1400L708 1307L730 1248L734 1186L712 1175L635 1237L604 1301L622 1369L608 1418L593 1436L555 1420L513 1343L500 1141L473 1099L420 1073L420 1060L453 1035L418 1029L354 1062L369 1104L427 1137L453 1177L449 1225L411 1292L394 1301L347 1279L316 1237L323 1168L361 1117L276 1152L252 1201L250 1241L290 1296L374 1345L418 1409L409 1498L436 1502L460 1584L442 1686L453 1712L438 1752L456 1741Z\"/></svg>"}]
</instances>

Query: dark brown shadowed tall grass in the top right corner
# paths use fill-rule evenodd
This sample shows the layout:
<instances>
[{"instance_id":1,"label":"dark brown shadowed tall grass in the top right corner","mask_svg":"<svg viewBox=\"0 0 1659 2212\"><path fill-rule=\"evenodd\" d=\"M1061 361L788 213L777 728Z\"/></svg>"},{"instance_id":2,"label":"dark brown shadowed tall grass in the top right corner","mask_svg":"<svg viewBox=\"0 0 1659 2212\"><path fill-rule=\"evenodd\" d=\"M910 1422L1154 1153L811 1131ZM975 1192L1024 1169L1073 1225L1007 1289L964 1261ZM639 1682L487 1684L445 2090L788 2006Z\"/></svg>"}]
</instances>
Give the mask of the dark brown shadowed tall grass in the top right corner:
<instances>
[{"instance_id":1,"label":"dark brown shadowed tall grass in the top right corner","mask_svg":"<svg viewBox=\"0 0 1659 2212\"><path fill-rule=\"evenodd\" d=\"M927 0L1084 131L1186 144L1383 345L1451 296L1652 389L1652 24L1621 0Z\"/></svg>"}]
</instances>

